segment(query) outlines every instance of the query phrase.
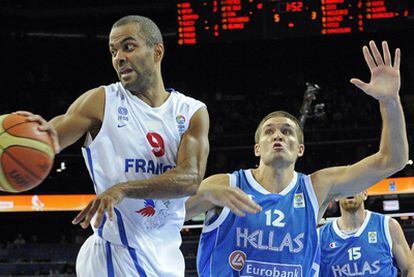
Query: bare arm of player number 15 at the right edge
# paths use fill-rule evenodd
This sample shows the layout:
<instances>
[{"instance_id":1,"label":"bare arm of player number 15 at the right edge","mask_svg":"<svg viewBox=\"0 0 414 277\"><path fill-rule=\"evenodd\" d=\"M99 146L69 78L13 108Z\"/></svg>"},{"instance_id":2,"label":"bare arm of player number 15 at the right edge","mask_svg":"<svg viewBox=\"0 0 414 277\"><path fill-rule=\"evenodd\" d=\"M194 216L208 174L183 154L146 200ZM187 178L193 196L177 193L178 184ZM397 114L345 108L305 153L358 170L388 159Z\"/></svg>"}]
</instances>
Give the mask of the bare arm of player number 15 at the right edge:
<instances>
[{"instance_id":1,"label":"bare arm of player number 15 at the right edge","mask_svg":"<svg viewBox=\"0 0 414 277\"><path fill-rule=\"evenodd\" d=\"M402 276L414 277L414 255L411 253L400 224L391 218L389 228L392 240L392 254L398 268L402 272Z\"/></svg>"}]
</instances>

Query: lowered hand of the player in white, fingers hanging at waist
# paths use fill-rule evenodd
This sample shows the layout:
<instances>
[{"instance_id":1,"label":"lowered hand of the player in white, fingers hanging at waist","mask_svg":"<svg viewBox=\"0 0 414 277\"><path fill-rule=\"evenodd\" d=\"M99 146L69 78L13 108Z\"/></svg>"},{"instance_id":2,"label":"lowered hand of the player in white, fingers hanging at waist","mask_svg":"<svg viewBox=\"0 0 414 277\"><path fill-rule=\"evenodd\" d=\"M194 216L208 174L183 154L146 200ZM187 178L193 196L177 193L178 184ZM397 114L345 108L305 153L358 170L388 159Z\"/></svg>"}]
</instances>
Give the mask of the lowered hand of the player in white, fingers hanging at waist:
<instances>
[{"instance_id":1,"label":"lowered hand of the player in white, fingers hanging at waist","mask_svg":"<svg viewBox=\"0 0 414 277\"><path fill-rule=\"evenodd\" d=\"M114 218L114 207L116 204L124 199L125 195L123 190L119 185L115 185L100 195L96 196L94 200L89 202L89 204L84 208L76 217L73 219L73 224L80 225L83 229L88 228L93 216L96 214L96 219L94 223L95 228L99 228L102 222L102 218L105 213L108 214L108 219L110 221Z\"/></svg>"}]
</instances>

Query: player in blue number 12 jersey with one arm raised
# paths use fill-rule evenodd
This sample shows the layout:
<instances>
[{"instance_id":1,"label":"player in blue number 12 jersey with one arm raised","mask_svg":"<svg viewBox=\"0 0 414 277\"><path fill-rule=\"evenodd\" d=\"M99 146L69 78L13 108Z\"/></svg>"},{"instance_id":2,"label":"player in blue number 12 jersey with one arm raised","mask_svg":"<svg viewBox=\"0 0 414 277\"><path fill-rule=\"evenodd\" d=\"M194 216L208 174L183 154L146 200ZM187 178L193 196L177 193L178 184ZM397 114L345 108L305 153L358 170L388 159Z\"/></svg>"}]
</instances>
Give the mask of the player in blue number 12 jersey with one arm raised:
<instances>
[{"instance_id":1,"label":"player in blue number 12 jersey with one arm raised","mask_svg":"<svg viewBox=\"0 0 414 277\"><path fill-rule=\"evenodd\" d=\"M393 61L386 42L383 55L373 41L362 50L371 81L351 83L379 101L383 129L378 152L350 166L298 173L295 162L305 150L298 120L282 111L267 115L255 133L258 168L213 175L186 203L188 219L224 207L207 214L197 256L200 276L317 276L316 228L329 201L354 195L406 165L400 50ZM252 200L260 212L255 213Z\"/></svg>"}]
</instances>

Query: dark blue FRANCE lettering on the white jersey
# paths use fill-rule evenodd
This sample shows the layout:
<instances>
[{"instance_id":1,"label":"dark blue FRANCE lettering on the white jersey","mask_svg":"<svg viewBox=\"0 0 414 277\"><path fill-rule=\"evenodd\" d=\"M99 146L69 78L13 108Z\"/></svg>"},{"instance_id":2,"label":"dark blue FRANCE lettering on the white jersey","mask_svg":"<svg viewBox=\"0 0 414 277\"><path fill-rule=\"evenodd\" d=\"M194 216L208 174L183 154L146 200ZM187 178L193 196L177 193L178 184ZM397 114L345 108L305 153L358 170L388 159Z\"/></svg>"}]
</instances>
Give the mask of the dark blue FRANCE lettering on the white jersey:
<instances>
[{"instance_id":1,"label":"dark blue FRANCE lettering on the white jersey","mask_svg":"<svg viewBox=\"0 0 414 277\"><path fill-rule=\"evenodd\" d=\"M134 159L127 158L124 161L124 170L126 173L150 173L153 175L160 175L164 172L173 169L175 164L163 164L151 159Z\"/></svg>"}]
</instances>

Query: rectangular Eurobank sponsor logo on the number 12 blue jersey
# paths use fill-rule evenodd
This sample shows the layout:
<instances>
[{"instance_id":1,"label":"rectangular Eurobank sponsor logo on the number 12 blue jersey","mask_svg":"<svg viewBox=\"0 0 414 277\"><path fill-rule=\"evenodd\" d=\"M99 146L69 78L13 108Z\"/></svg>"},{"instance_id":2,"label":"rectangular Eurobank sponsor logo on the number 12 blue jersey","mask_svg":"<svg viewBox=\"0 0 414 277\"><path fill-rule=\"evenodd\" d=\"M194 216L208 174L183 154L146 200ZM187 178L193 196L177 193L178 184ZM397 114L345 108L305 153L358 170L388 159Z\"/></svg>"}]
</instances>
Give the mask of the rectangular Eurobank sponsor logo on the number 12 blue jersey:
<instances>
[{"instance_id":1,"label":"rectangular Eurobank sponsor logo on the number 12 blue jersey","mask_svg":"<svg viewBox=\"0 0 414 277\"><path fill-rule=\"evenodd\" d=\"M302 266L246 260L240 276L302 277Z\"/></svg>"}]
</instances>

